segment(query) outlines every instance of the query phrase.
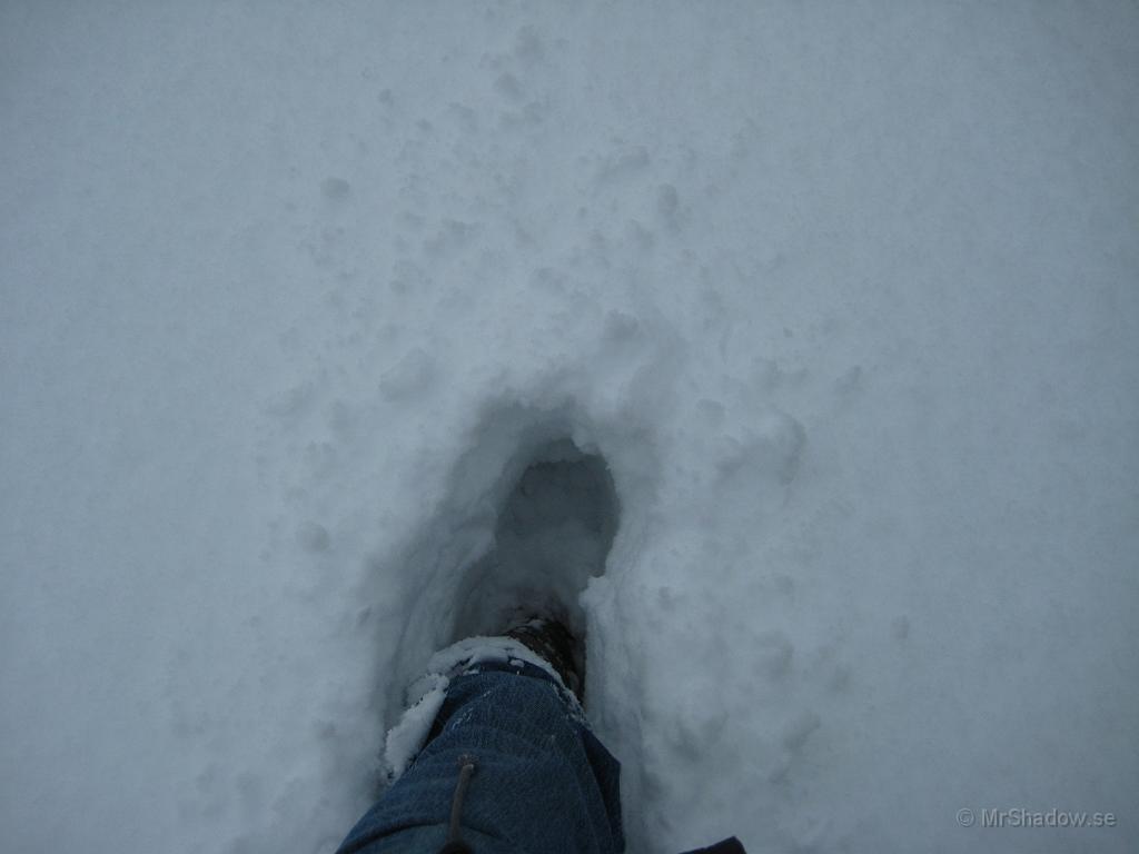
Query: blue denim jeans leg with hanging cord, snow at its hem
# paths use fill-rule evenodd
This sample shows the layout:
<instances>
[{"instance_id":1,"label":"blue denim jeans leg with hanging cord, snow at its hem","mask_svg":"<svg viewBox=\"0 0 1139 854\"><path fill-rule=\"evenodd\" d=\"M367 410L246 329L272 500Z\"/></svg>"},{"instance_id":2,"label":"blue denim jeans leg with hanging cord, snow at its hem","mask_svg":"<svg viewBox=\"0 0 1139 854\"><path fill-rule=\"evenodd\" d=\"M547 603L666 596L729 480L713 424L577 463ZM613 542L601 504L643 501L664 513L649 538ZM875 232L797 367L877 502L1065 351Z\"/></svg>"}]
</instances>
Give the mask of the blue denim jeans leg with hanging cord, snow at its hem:
<instances>
[{"instance_id":1,"label":"blue denim jeans leg with hanging cord, snow at its hem","mask_svg":"<svg viewBox=\"0 0 1139 854\"><path fill-rule=\"evenodd\" d=\"M560 691L544 671L521 662L452 679L426 746L338 854L436 854L468 758L474 770L459 822L476 854L624 851L621 766Z\"/></svg>"}]
</instances>

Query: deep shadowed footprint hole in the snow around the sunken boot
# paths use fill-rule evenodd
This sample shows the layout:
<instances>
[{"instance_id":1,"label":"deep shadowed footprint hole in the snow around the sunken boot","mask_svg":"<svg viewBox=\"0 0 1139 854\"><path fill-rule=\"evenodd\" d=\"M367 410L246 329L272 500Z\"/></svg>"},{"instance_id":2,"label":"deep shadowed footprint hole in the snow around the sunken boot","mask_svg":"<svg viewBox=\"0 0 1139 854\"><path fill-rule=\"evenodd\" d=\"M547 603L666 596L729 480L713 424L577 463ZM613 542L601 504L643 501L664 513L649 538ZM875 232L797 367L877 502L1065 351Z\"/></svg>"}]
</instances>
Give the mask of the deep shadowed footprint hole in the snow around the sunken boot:
<instances>
[{"instance_id":1,"label":"deep shadowed footprint hole in the snow around the sunken boot","mask_svg":"<svg viewBox=\"0 0 1139 854\"><path fill-rule=\"evenodd\" d=\"M558 601L583 633L596 605L583 594L600 590L590 581L606 570L611 547L622 561L637 548L645 519L624 518L616 485L638 507L652 501L659 463L647 426L624 414L598 425L575 399L542 394L489 402L446 481L432 487L433 517L368 560L360 596L388 615L368 630L387 721L435 651L500 632L518 605ZM633 533L618 537L629 524Z\"/></svg>"}]
</instances>

